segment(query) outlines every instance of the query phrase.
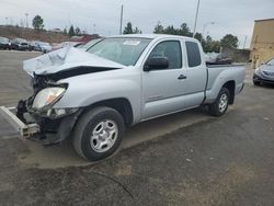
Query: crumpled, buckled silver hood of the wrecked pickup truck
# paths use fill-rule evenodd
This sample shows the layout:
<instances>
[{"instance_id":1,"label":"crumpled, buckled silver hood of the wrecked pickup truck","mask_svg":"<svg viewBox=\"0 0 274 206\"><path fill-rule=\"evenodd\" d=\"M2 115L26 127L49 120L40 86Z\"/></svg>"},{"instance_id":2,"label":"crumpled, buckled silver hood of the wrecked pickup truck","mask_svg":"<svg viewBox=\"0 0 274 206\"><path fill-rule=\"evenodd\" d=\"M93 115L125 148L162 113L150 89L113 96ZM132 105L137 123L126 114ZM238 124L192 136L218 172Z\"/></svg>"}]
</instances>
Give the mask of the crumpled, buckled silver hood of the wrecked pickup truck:
<instances>
[{"instance_id":1,"label":"crumpled, buckled silver hood of the wrecked pickup truck","mask_svg":"<svg viewBox=\"0 0 274 206\"><path fill-rule=\"evenodd\" d=\"M23 62L23 69L32 77L34 73L42 76L54 75L79 67L111 69L124 68L125 66L75 47L61 48Z\"/></svg>"}]
</instances>

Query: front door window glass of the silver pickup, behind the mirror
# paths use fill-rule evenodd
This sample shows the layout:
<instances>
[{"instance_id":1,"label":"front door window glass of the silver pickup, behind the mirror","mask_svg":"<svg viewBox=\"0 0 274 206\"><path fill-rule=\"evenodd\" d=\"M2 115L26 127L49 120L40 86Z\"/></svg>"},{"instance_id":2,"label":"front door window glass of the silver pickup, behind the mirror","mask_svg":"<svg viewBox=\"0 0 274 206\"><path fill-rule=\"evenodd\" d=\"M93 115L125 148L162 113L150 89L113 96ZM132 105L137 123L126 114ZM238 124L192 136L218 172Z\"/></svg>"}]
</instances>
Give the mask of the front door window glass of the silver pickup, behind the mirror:
<instances>
[{"instance_id":1,"label":"front door window glass of the silver pickup, behind the mirror","mask_svg":"<svg viewBox=\"0 0 274 206\"><path fill-rule=\"evenodd\" d=\"M182 68L182 50L181 44L178 41L167 41L159 43L149 58L153 57L165 57L169 59L169 69Z\"/></svg>"}]
</instances>

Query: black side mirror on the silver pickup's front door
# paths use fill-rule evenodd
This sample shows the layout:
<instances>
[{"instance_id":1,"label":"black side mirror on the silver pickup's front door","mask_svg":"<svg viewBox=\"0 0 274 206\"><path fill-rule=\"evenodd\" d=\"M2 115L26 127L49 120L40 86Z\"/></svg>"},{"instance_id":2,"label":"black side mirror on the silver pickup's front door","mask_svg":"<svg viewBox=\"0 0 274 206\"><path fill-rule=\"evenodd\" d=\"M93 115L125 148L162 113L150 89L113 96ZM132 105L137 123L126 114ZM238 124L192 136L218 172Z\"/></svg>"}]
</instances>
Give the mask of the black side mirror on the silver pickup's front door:
<instances>
[{"instance_id":1,"label":"black side mirror on the silver pickup's front door","mask_svg":"<svg viewBox=\"0 0 274 206\"><path fill-rule=\"evenodd\" d=\"M169 68L169 59L165 57L149 58L145 64L144 71L161 70Z\"/></svg>"}]
</instances>

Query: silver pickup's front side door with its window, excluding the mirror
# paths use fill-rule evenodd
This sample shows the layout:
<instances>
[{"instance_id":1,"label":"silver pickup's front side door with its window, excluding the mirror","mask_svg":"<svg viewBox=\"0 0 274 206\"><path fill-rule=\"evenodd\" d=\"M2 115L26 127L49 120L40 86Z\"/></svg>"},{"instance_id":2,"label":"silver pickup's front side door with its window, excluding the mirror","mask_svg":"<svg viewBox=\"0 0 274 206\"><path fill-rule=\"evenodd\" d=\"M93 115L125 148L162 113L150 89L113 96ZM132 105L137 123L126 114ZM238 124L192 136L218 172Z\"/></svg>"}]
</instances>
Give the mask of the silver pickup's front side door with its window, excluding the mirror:
<instances>
[{"instance_id":1,"label":"silver pickup's front side door with its window, excluding the mirror","mask_svg":"<svg viewBox=\"0 0 274 206\"><path fill-rule=\"evenodd\" d=\"M142 119L184 108L186 77L182 50L180 39L170 39L159 42L150 52L146 62L149 58L165 57L169 60L169 67L142 71Z\"/></svg>"}]
</instances>

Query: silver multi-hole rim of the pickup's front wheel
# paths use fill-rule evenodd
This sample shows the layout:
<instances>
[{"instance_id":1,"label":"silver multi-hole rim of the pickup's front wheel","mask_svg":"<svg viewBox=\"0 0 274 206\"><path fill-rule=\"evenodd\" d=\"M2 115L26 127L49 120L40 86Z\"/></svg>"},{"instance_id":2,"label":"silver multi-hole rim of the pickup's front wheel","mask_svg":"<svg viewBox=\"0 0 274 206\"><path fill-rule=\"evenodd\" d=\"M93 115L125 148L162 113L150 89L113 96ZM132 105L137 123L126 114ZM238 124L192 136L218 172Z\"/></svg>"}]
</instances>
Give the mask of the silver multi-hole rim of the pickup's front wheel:
<instances>
[{"instance_id":1,"label":"silver multi-hole rim of the pickup's front wheel","mask_svg":"<svg viewBox=\"0 0 274 206\"><path fill-rule=\"evenodd\" d=\"M111 119L100 122L93 129L90 144L96 152L105 152L112 148L118 136L118 127Z\"/></svg>"}]
</instances>

